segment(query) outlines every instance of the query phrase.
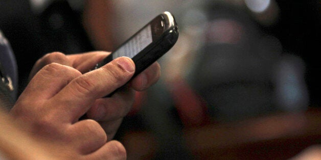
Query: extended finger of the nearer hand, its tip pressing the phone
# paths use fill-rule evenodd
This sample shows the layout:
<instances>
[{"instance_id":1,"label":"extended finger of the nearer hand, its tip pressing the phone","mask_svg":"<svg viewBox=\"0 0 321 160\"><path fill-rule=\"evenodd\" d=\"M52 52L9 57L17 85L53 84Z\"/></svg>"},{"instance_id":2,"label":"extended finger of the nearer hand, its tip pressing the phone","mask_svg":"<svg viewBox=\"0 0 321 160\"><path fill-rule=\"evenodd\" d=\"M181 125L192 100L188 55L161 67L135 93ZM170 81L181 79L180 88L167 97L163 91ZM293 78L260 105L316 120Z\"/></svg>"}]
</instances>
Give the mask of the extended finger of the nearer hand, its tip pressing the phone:
<instances>
[{"instance_id":1,"label":"extended finger of the nearer hand, its tip pressing the phone","mask_svg":"<svg viewBox=\"0 0 321 160\"><path fill-rule=\"evenodd\" d=\"M117 58L105 66L87 72L71 81L52 100L60 102L66 117L78 120L96 99L126 84L135 71L130 58Z\"/></svg>"}]
</instances>

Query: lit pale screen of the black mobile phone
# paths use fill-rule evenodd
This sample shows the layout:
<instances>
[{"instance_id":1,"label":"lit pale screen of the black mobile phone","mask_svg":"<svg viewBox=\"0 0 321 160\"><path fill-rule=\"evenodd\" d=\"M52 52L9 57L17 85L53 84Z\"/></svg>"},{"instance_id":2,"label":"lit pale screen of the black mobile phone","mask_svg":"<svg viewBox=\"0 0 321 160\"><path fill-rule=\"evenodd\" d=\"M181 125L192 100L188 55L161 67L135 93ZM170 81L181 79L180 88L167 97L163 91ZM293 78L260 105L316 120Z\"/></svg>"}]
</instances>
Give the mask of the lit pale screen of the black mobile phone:
<instances>
[{"instance_id":1,"label":"lit pale screen of the black mobile phone","mask_svg":"<svg viewBox=\"0 0 321 160\"><path fill-rule=\"evenodd\" d=\"M132 37L127 43L118 48L112 54L112 59L116 59L118 57L129 57L133 58L140 51L142 51L145 47L147 47L150 43L153 42L152 39L152 31L151 25L147 25L143 30L137 33L134 37Z\"/></svg>"}]
</instances>

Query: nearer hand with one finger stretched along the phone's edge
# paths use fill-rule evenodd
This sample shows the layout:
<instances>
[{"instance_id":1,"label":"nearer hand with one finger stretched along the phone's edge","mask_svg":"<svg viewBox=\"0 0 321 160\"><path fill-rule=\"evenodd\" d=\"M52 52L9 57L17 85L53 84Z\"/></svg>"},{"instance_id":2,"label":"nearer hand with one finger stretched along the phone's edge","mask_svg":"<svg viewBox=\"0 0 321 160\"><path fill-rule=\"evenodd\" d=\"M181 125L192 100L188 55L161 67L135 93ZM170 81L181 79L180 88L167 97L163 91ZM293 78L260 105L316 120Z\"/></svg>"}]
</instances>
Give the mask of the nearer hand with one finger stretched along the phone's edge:
<instances>
[{"instance_id":1,"label":"nearer hand with one finger stretched along the phone's edge","mask_svg":"<svg viewBox=\"0 0 321 160\"><path fill-rule=\"evenodd\" d=\"M118 58L85 74L51 63L35 74L10 113L32 136L60 144L62 151L77 159L125 157L119 142L106 143L107 135L99 123L79 118L97 99L123 86L134 69L129 58Z\"/></svg>"}]
</instances>

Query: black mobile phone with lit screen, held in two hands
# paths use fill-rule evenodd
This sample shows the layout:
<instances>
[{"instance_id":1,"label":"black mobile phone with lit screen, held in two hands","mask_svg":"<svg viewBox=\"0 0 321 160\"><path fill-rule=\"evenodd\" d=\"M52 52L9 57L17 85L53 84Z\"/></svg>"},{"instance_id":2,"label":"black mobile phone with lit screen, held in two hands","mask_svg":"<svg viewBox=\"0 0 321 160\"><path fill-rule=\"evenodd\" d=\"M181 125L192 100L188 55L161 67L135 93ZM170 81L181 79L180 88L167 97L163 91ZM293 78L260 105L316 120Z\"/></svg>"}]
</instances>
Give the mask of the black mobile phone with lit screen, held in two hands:
<instances>
[{"instance_id":1,"label":"black mobile phone with lit screen, held in two hands","mask_svg":"<svg viewBox=\"0 0 321 160\"><path fill-rule=\"evenodd\" d=\"M115 51L112 51L94 69L104 66L118 57L129 57L135 63L136 69L133 75L135 77L166 54L177 39L178 28L175 18L170 12L164 12L147 23ZM106 97L110 97L113 93Z\"/></svg>"}]
</instances>

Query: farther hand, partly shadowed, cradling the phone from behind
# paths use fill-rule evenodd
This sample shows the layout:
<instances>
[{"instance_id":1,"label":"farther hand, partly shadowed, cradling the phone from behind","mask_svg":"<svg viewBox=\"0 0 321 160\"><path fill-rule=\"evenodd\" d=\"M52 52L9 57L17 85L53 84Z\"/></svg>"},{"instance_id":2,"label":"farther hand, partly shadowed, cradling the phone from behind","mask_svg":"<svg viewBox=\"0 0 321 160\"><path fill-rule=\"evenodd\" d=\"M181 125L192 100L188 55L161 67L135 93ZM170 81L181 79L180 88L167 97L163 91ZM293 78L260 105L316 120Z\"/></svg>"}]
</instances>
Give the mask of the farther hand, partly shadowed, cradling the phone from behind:
<instances>
[{"instance_id":1,"label":"farther hand, partly shadowed, cradling the phone from behind","mask_svg":"<svg viewBox=\"0 0 321 160\"><path fill-rule=\"evenodd\" d=\"M85 73L109 54L109 52L104 51L76 55L63 55L59 52L53 52L36 62L30 77L33 77L43 66L51 63L71 66L81 73ZM111 140L116 134L123 117L131 109L135 91L143 91L149 88L158 81L160 74L159 64L157 62L152 64L141 74L133 78L127 85L127 89L118 91L110 98L97 98L95 103L90 106L86 114L87 118L99 121L107 133L108 140Z\"/></svg>"}]
</instances>

